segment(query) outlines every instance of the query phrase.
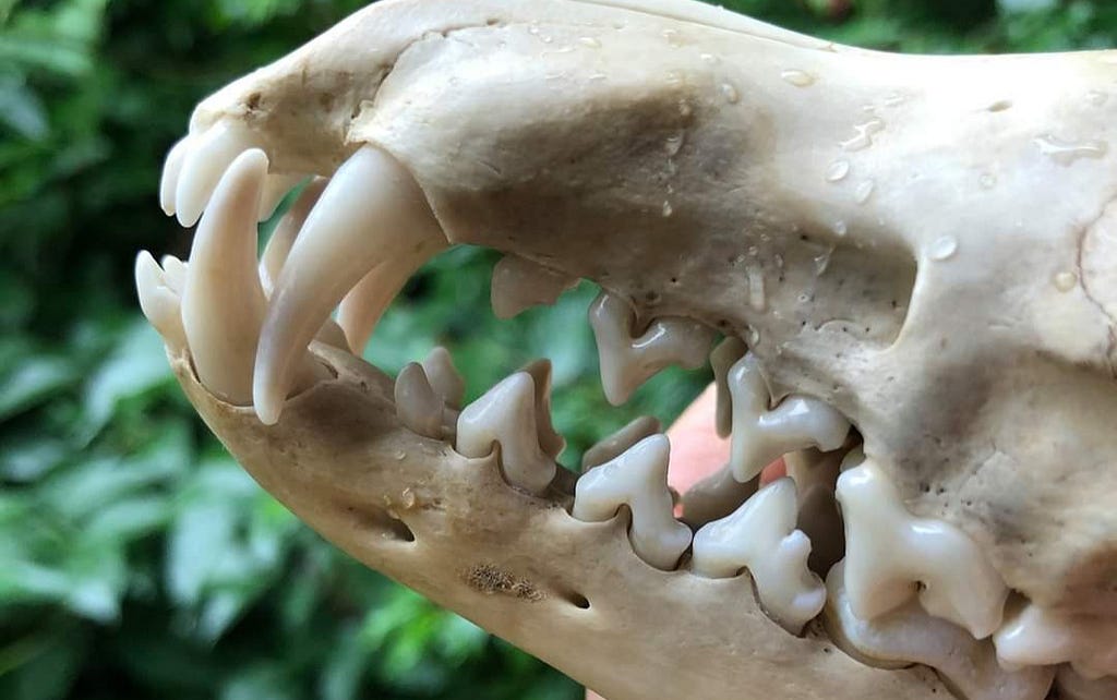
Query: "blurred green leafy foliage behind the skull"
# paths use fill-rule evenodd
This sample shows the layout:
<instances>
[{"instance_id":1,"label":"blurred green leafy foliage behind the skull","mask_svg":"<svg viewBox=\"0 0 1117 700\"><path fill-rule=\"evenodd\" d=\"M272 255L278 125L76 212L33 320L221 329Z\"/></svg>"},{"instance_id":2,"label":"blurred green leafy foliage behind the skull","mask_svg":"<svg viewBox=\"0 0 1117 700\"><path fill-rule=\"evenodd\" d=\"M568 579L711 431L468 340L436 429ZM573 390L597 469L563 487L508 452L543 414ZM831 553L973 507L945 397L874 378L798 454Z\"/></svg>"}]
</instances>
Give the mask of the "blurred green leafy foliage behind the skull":
<instances>
[{"instance_id":1,"label":"blurred green leafy foliage behind the skull","mask_svg":"<svg viewBox=\"0 0 1117 700\"><path fill-rule=\"evenodd\" d=\"M579 696L262 493L194 418L137 310L136 250L189 250L155 189L193 104L362 4L0 0L0 698ZM1105 0L726 4L907 51L1100 48L1117 31ZM637 413L670 419L706 381L666 373L609 409L591 286L498 323L493 262L460 249L429 265L369 357L394 372L445 344L471 396L552 357L567 464Z\"/></svg>"}]
</instances>

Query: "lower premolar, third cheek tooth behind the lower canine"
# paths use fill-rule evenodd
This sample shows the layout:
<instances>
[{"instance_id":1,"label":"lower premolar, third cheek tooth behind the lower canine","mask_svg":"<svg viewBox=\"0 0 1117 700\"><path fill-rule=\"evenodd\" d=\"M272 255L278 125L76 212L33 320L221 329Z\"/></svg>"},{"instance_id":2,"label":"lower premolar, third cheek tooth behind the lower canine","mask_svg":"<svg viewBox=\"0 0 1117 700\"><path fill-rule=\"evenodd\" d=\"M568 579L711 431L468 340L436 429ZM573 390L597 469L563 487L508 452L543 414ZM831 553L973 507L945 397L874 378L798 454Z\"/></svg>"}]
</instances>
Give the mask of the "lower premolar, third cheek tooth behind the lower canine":
<instances>
[{"instance_id":1,"label":"lower premolar, third cheek tooth behind the lower canine","mask_svg":"<svg viewBox=\"0 0 1117 700\"><path fill-rule=\"evenodd\" d=\"M663 570L674 569L690 545L690 528L671 515L674 504L667 488L670 450L667 435L651 435L585 472L577 480L572 512L585 522L603 522L628 506L632 511L632 549Z\"/></svg>"}]
</instances>

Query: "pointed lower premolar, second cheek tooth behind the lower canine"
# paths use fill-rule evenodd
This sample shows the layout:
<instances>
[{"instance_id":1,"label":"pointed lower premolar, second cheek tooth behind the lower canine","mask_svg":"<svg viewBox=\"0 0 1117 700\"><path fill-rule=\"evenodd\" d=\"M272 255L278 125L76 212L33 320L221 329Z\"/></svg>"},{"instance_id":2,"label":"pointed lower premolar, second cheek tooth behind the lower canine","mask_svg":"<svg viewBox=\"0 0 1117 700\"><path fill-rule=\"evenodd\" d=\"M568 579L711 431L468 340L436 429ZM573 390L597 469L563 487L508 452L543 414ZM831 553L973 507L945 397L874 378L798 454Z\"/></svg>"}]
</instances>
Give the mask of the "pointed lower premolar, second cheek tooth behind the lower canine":
<instances>
[{"instance_id":1,"label":"pointed lower premolar, second cheek tooth behind the lower canine","mask_svg":"<svg viewBox=\"0 0 1117 700\"><path fill-rule=\"evenodd\" d=\"M535 381L517 372L466 406L458 416L455 449L469 458L488 457L500 445L500 468L512 486L542 493L557 467L540 447Z\"/></svg>"}]
</instances>

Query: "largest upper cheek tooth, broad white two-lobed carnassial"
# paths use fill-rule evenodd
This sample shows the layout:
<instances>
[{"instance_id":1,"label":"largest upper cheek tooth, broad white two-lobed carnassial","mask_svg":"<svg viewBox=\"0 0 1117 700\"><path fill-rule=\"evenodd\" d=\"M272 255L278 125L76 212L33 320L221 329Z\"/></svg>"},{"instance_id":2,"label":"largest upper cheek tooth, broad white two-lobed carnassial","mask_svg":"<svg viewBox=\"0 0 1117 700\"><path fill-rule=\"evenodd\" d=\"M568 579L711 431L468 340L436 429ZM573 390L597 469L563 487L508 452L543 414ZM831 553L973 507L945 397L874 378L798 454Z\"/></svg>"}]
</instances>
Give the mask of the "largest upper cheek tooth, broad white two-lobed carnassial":
<instances>
[{"instance_id":1,"label":"largest upper cheek tooth, broad white two-lobed carnassial","mask_svg":"<svg viewBox=\"0 0 1117 700\"><path fill-rule=\"evenodd\" d=\"M846 589L861 620L900 607L917 594L932 615L984 639L1001 625L1009 589L958 528L916 518L871 459L838 477L846 520Z\"/></svg>"}]
</instances>

